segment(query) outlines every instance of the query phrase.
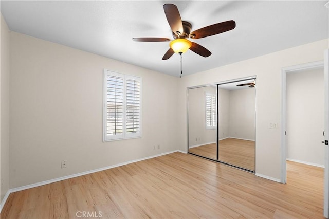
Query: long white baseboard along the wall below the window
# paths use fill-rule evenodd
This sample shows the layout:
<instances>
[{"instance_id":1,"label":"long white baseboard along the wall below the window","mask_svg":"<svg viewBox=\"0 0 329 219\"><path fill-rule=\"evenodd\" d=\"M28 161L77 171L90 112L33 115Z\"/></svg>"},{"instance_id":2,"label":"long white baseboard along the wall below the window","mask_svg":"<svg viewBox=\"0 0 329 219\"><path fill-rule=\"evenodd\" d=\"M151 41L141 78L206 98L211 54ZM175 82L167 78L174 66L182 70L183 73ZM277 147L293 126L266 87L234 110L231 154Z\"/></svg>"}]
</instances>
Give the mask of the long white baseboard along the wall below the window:
<instances>
[{"instance_id":1,"label":"long white baseboard along the wall below the window","mask_svg":"<svg viewBox=\"0 0 329 219\"><path fill-rule=\"evenodd\" d=\"M59 177L59 178L54 178L54 179L50 179L50 180L46 180L46 181L42 181L42 182L36 182L34 184L9 189L9 193L18 192L18 191L22 191L22 190L25 190L25 189L31 189L31 188L38 187L38 186L44 186L44 185L47 185L47 184L51 184L53 182L58 182L58 181L62 181L62 180L65 180L65 179L70 179L70 178L74 178L74 177L78 177L78 176L83 176L83 175L87 175L87 174L90 174L90 173L96 173L96 172L99 172L99 171L108 170L108 169L120 167L120 166L123 166L123 165L128 165L130 163L134 163L134 162L138 162L138 161L142 161L142 160L147 160L147 159L151 159L151 158L154 158L154 157L163 156L163 155L171 154L171 153L174 153L174 152L180 152L180 151L179 150L169 151L169 152L165 152L165 153L161 153L161 154L152 155L152 156L149 156L149 157L144 157L144 158L140 158L140 159L136 159L136 160L131 160L131 161L127 161L127 162L118 163L116 165L111 165L111 166L107 166L107 167L98 168L98 169L95 169L95 170L89 170L89 171L85 171L85 172L82 172L82 173L72 174L72 175L63 176L63 177ZM182 152L182 153L185 153L185 152Z\"/></svg>"}]
</instances>

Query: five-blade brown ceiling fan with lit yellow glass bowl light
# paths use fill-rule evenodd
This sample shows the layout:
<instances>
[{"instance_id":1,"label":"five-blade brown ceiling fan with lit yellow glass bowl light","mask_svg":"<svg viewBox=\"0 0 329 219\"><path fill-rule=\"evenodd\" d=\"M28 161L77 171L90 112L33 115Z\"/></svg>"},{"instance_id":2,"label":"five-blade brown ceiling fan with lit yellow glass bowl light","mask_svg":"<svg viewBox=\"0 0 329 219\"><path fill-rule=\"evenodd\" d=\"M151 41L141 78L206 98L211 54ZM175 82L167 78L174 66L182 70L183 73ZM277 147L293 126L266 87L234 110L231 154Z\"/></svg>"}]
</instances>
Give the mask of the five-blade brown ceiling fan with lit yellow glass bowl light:
<instances>
[{"instance_id":1,"label":"five-blade brown ceiling fan with lit yellow glass bowl light","mask_svg":"<svg viewBox=\"0 0 329 219\"><path fill-rule=\"evenodd\" d=\"M188 49L191 49L193 52L199 54L203 57L209 57L211 52L205 47L191 42L186 38L191 39L199 39L205 38L207 36L216 35L218 33L223 33L235 28L235 22L225 21L217 24L213 24L207 27L200 28L191 32L192 25L190 22L182 21L180 18L180 14L178 8L174 4L165 4L163 5L163 9L165 10L165 14L167 17L167 21L172 30L172 35L174 40L170 40L169 38L133 38L134 41L139 42L169 42L170 48L165 53L165 56L162 57L162 60L169 59L175 52L176 53L184 53Z\"/></svg>"}]
</instances>

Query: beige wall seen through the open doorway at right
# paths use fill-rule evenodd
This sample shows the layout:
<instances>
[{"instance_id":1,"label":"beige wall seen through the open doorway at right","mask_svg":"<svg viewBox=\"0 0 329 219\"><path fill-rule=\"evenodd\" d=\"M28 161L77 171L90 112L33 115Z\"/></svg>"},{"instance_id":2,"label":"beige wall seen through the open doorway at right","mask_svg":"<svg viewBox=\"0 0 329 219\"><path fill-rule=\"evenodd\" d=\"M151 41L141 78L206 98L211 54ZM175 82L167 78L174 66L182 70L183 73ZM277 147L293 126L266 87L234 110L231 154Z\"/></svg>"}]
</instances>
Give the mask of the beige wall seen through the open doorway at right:
<instances>
[{"instance_id":1,"label":"beige wall seen through the open doorway at right","mask_svg":"<svg viewBox=\"0 0 329 219\"><path fill-rule=\"evenodd\" d=\"M324 69L287 74L287 158L324 166Z\"/></svg>"}]
</instances>

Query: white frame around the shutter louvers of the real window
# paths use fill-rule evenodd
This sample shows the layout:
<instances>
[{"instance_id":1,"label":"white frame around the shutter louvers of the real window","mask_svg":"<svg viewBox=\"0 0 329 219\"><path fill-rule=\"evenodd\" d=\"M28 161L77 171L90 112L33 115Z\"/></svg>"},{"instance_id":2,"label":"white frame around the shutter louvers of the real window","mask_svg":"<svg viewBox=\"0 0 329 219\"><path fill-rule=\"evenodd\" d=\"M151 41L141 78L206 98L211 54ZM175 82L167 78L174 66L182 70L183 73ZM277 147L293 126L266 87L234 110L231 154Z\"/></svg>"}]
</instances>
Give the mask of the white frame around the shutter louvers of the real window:
<instances>
[{"instance_id":1,"label":"white frame around the shutter louvers of the real window","mask_svg":"<svg viewBox=\"0 0 329 219\"><path fill-rule=\"evenodd\" d=\"M107 135L107 76L120 77L123 79L123 116L122 116L122 134ZM126 132L126 100L127 100L127 80L138 81L140 84L139 92L139 132ZM139 138L142 133L142 79L136 76L125 75L111 70L103 70L103 141L113 141L121 139Z\"/></svg>"}]
</instances>

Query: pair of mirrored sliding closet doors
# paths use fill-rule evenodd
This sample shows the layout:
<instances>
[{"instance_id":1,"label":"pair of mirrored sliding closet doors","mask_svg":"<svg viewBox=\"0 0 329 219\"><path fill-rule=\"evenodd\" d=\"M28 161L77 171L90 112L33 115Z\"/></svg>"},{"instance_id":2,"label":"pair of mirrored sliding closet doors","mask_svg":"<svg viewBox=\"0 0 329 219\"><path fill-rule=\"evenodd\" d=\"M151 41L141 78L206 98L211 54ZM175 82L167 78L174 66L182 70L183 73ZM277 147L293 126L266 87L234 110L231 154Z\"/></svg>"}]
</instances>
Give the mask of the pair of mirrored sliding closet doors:
<instances>
[{"instance_id":1,"label":"pair of mirrored sliding closet doors","mask_svg":"<svg viewBox=\"0 0 329 219\"><path fill-rule=\"evenodd\" d=\"M188 89L188 152L255 171L255 78Z\"/></svg>"}]
</instances>

